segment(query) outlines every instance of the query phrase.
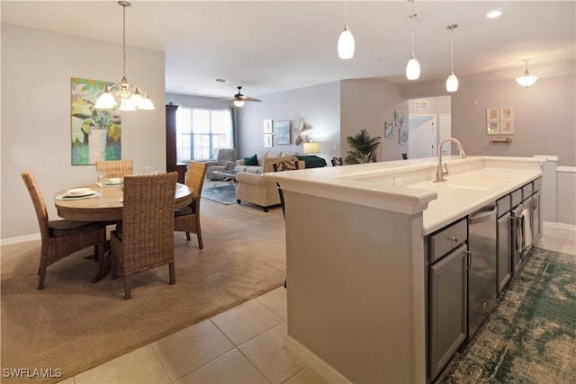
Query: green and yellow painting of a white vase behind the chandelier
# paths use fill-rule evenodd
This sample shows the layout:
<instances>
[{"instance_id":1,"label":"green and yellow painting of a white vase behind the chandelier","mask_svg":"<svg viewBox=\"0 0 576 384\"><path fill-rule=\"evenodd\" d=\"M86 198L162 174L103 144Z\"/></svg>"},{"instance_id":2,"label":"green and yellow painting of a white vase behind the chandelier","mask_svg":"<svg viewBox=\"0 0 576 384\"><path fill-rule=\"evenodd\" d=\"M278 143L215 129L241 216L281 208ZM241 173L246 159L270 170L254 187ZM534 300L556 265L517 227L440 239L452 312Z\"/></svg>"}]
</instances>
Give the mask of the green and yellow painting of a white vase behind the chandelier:
<instances>
[{"instance_id":1,"label":"green and yellow painting of a white vase behind the chandelier","mask_svg":"<svg viewBox=\"0 0 576 384\"><path fill-rule=\"evenodd\" d=\"M72 165L93 165L96 160L120 160L120 113L117 109L94 109L98 96L112 83L73 77L71 85Z\"/></svg>"}]
</instances>

